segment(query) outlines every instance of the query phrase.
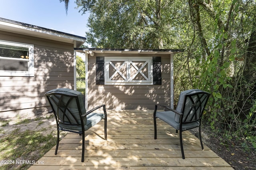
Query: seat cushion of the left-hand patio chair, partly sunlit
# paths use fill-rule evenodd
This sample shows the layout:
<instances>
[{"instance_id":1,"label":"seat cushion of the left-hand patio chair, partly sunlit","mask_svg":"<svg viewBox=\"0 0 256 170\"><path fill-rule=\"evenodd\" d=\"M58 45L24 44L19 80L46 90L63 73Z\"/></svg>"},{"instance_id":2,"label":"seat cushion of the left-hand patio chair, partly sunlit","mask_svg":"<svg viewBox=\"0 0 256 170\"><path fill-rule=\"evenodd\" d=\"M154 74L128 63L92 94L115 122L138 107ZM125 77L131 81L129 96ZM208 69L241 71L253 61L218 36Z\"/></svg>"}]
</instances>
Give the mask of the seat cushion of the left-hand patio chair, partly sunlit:
<instances>
[{"instance_id":1,"label":"seat cushion of the left-hand patio chair, partly sunlit","mask_svg":"<svg viewBox=\"0 0 256 170\"><path fill-rule=\"evenodd\" d=\"M96 125L98 122L100 122L102 119L104 119L104 114L103 113L90 113L87 115L87 121L86 125L84 125L84 130L87 131L94 125ZM74 131L82 131L82 126L71 126L71 125L64 125L64 124L59 124L60 127L64 129L70 129Z\"/></svg>"}]
</instances>

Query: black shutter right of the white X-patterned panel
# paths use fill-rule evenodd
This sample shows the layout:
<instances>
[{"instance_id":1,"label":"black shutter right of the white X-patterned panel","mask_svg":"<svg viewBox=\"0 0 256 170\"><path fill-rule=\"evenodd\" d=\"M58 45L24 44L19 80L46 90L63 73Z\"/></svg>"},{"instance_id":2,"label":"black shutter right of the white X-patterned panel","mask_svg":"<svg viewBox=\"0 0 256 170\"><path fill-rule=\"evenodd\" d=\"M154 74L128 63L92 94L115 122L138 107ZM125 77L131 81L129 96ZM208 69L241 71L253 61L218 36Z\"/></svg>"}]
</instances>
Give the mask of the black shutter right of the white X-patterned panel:
<instances>
[{"instance_id":1,"label":"black shutter right of the white X-patterned panel","mask_svg":"<svg viewBox=\"0 0 256 170\"><path fill-rule=\"evenodd\" d=\"M153 57L153 84L162 84L161 57Z\"/></svg>"}]
</instances>

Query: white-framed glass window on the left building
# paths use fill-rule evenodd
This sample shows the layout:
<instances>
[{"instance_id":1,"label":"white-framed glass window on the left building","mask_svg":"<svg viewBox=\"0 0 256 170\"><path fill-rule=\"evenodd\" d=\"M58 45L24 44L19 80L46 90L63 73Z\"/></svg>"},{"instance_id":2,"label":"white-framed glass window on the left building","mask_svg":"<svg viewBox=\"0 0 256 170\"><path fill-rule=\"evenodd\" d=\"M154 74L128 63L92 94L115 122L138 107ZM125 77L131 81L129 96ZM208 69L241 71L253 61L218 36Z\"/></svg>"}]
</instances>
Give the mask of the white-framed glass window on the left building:
<instances>
[{"instance_id":1,"label":"white-framed glass window on the left building","mask_svg":"<svg viewBox=\"0 0 256 170\"><path fill-rule=\"evenodd\" d=\"M0 40L0 76L34 76L34 45Z\"/></svg>"}]
</instances>

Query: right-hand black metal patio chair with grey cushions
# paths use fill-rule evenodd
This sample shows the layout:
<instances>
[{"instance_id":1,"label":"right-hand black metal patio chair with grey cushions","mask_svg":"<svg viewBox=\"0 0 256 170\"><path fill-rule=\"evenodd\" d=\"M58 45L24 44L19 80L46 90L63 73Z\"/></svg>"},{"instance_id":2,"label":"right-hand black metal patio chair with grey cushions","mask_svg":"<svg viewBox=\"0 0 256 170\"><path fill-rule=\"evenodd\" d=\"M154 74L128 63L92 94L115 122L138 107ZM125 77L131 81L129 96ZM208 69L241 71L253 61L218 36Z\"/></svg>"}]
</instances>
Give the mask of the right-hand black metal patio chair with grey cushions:
<instances>
[{"instance_id":1,"label":"right-hand black metal patio chair with grey cushions","mask_svg":"<svg viewBox=\"0 0 256 170\"><path fill-rule=\"evenodd\" d=\"M182 131L199 128L199 138L204 149L201 137L201 119L205 106L208 102L210 93L198 89L186 90L180 93L176 110L166 106L156 105L154 109L154 138L156 139L156 118L159 118L176 129L176 133L180 131L180 149L182 158L185 159ZM157 111L158 106L164 108L165 111Z\"/></svg>"}]
</instances>

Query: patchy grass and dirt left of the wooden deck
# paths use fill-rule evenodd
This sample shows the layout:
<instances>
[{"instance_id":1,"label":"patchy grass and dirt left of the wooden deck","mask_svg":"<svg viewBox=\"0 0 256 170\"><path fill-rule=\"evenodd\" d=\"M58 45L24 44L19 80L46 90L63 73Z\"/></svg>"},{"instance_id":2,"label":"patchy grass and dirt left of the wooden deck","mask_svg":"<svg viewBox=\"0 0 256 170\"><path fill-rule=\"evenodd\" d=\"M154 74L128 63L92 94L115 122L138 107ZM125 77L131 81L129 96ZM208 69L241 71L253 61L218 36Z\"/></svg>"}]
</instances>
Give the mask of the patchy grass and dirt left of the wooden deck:
<instances>
[{"instance_id":1,"label":"patchy grass and dirt left of the wooden deck","mask_svg":"<svg viewBox=\"0 0 256 170\"><path fill-rule=\"evenodd\" d=\"M0 161L8 160L10 163L0 164L0 169L26 170L33 162L37 162L46 152L52 149L52 147L56 145L56 128L54 128L55 125L48 125L48 121L45 122L43 120L54 120L53 117L53 114L50 114L35 119L18 118L19 120L14 125L9 125L10 120L0 120L1 133L4 134L0 139ZM43 123L46 124L42 126L42 128L37 128ZM29 128L29 125L32 126ZM13 127L13 130L9 131L8 134L5 133L7 127L9 127L9 129ZM21 127L27 127L27 129L23 129L22 131ZM46 130L50 130L50 134L46 134ZM64 133L61 133L61 136L64 136ZM19 161L30 161L32 164L19 164Z\"/></svg>"}]
</instances>

